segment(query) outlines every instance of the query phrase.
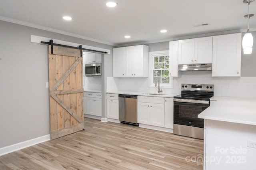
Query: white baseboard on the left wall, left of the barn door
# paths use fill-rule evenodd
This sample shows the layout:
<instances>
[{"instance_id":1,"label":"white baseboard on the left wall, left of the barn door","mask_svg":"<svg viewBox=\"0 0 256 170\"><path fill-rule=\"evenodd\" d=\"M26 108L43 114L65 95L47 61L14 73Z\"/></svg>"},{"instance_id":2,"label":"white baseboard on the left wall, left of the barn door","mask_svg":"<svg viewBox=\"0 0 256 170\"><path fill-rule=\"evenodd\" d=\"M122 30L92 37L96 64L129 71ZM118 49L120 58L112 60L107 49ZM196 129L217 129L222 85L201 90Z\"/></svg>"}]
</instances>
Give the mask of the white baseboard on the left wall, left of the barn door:
<instances>
[{"instance_id":1,"label":"white baseboard on the left wall, left of the barn door","mask_svg":"<svg viewBox=\"0 0 256 170\"><path fill-rule=\"evenodd\" d=\"M0 156L50 140L50 134L0 148Z\"/></svg>"}]
</instances>

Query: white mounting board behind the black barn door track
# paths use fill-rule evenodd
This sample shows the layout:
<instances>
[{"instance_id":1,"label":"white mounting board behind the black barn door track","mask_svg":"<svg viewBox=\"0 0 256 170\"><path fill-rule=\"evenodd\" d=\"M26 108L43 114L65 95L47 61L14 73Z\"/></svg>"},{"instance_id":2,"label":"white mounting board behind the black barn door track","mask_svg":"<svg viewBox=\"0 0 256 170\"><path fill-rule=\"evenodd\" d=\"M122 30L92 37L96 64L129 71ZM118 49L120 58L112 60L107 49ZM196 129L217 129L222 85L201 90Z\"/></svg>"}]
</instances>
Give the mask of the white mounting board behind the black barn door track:
<instances>
[{"instance_id":1,"label":"white mounting board behind the black barn door track","mask_svg":"<svg viewBox=\"0 0 256 170\"><path fill-rule=\"evenodd\" d=\"M98 50L98 51L103 51L103 52L106 51L106 52L108 52L108 54L110 54L110 49L104 49L104 48L99 48L99 47L93 47L90 45L83 45L83 44L79 44L79 43L66 42L66 41L62 41L62 40L58 40L58 39L31 35L31 42L34 42L34 43L41 43L41 41L42 42L50 42L50 40L53 40L53 43L69 45L69 46L73 46L73 47L78 47L79 45L82 45L82 48L93 49L93 50Z\"/></svg>"}]
</instances>

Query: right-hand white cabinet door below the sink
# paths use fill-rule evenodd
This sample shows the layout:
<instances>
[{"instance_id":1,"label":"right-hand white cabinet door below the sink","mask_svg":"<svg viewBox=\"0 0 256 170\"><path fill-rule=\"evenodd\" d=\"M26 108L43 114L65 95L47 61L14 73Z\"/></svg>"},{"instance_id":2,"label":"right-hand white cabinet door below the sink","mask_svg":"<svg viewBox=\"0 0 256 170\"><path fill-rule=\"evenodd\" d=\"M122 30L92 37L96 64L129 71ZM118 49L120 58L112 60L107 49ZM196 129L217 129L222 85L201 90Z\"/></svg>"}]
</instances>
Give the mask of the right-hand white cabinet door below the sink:
<instances>
[{"instance_id":1,"label":"right-hand white cabinet door below the sink","mask_svg":"<svg viewBox=\"0 0 256 170\"><path fill-rule=\"evenodd\" d=\"M150 103L150 125L164 127L164 104Z\"/></svg>"}]
</instances>

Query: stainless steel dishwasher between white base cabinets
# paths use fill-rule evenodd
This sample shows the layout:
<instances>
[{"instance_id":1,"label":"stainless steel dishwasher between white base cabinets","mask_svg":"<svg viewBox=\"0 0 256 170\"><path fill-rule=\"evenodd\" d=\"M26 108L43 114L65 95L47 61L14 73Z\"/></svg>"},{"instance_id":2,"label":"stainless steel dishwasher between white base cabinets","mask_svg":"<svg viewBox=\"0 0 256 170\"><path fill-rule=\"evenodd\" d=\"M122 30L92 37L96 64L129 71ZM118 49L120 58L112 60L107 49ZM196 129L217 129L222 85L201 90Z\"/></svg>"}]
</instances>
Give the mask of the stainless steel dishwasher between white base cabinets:
<instances>
[{"instance_id":1,"label":"stainless steel dishwasher between white base cabinets","mask_svg":"<svg viewBox=\"0 0 256 170\"><path fill-rule=\"evenodd\" d=\"M119 121L124 124L139 126L137 121L137 96L118 95Z\"/></svg>"}]
</instances>

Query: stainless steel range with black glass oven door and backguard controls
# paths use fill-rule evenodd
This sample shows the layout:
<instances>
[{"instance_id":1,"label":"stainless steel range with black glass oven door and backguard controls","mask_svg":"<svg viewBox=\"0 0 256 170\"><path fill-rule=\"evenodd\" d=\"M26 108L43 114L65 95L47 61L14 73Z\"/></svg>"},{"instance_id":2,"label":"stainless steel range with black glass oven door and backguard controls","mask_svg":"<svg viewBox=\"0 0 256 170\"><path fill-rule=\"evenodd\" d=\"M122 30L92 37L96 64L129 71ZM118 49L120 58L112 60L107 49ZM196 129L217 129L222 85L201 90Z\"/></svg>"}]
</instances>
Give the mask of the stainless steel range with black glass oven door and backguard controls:
<instances>
[{"instance_id":1,"label":"stainless steel range with black glass oven door and backguard controls","mask_svg":"<svg viewBox=\"0 0 256 170\"><path fill-rule=\"evenodd\" d=\"M204 138L204 119L198 114L210 106L214 85L182 84L181 95L174 96L173 133Z\"/></svg>"}]
</instances>

